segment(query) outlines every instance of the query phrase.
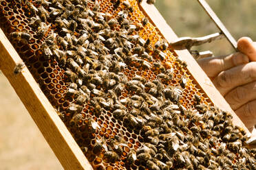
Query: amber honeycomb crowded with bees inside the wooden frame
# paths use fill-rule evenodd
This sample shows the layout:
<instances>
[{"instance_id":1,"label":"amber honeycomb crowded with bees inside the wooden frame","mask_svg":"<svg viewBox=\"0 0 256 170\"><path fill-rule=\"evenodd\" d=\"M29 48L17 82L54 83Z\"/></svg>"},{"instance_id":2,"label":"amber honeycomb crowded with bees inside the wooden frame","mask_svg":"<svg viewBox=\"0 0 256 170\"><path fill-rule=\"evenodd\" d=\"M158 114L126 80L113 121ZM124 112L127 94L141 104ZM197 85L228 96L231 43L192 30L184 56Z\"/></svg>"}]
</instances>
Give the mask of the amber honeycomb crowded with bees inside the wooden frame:
<instances>
[{"instance_id":1,"label":"amber honeycomb crowded with bees inside the wooden frame","mask_svg":"<svg viewBox=\"0 0 256 170\"><path fill-rule=\"evenodd\" d=\"M138 3L0 0L0 25L94 169L256 169Z\"/></svg>"}]
</instances>

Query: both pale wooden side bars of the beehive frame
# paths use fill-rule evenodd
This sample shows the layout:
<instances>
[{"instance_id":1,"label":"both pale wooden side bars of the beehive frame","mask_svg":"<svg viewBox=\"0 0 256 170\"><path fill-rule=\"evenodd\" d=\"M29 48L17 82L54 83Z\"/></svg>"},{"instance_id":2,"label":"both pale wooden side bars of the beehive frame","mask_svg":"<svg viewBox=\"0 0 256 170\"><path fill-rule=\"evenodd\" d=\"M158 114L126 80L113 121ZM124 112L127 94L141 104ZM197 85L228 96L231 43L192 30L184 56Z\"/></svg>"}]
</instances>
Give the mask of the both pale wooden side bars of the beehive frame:
<instances>
[{"instance_id":1,"label":"both pale wooden side bars of the beehive frame","mask_svg":"<svg viewBox=\"0 0 256 170\"><path fill-rule=\"evenodd\" d=\"M149 5L146 1L142 1L140 10L145 12L153 25L157 27L168 42L178 38L154 5ZM202 71L189 51L182 50L175 51L175 53L188 64L187 68L189 72L193 75L198 84L200 84L209 99L213 101L213 104L222 110L231 112L231 114L233 114L233 123L243 127L244 130L250 134L244 123L242 123L235 112L233 112L231 107L226 103L226 100L213 86L209 77ZM65 127L64 123L58 117L58 114L56 114L56 111L47 100L38 84L36 84L28 68L24 67L21 73L17 75L14 74L14 67L21 62L22 60L19 54L0 29L0 69L8 78L8 81L23 102L25 108L30 112L32 119L34 119L39 130L41 130L41 133L54 151L54 154L56 154L61 165L63 165L64 169L92 169L92 166L74 141L67 127Z\"/></svg>"}]
</instances>

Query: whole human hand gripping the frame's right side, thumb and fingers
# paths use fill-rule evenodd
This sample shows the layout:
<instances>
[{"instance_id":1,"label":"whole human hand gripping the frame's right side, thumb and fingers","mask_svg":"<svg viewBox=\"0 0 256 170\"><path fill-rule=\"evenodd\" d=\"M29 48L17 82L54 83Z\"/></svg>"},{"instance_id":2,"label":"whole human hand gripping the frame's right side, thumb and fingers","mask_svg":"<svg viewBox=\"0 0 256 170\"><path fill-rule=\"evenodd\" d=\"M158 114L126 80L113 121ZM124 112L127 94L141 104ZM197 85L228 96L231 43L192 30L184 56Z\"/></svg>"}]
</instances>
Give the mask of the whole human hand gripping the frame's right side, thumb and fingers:
<instances>
[{"instance_id":1,"label":"whole human hand gripping the frame's right side, thumb and fingers","mask_svg":"<svg viewBox=\"0 0 256 170\"><path fill-rule=\"evenodd\" d=\"M240 38L240 52L198 61L237 116L250 128L256 124L256 42Z\"/></svg>"}]
</instances>

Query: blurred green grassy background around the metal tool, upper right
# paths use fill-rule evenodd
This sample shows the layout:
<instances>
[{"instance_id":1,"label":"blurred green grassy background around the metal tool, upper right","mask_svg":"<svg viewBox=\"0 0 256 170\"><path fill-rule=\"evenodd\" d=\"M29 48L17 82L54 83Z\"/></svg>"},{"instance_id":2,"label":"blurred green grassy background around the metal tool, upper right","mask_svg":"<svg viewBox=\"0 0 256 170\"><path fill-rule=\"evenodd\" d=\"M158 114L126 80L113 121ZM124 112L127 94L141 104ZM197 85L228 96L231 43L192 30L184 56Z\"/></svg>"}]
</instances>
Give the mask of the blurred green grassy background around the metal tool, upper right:
<instances>
[{"instance_id":1,"label":"blurred green grassy background around the metal tool, upper right","mask_svg":"<svg viewBox=\"0 0 256 170\"><path fill-rule=\"evenodd\" d=\"M242 36L256 39L256 0L207 0L207 2L236 40ZM220 32L197 0L157 0L156 6L179 37L198 37ZM211 50L215 56L234 51L226 39L193 49Z\"/></svg>"}]
</instances>

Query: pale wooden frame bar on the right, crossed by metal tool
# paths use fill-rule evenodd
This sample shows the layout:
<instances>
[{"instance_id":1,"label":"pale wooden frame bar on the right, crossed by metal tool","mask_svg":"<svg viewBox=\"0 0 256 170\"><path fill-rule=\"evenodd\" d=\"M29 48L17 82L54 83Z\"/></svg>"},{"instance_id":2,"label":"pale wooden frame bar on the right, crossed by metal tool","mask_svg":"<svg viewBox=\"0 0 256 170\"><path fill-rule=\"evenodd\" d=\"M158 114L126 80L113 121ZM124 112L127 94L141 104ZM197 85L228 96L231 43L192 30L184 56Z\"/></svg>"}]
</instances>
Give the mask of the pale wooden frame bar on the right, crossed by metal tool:
<instances>
[{"instance_id":1,"label":"pale wooden frame bar on the right, crossed by metal tool","mask_svg":"<svg viewBox=\"0 0 256 170\"><path fill-rule=\"evenodd\" d=\"M167 24L164 20L158 9L156 9L155 5L149 5L145 0L140 3L140 7L147 14L148 18L152 21L152 23L156 26L160 34L168 41L173 42L173 40L177 39L178 36L173 32L173 29ZM229 104L226 102L224 97L220 94L220 92L215 88L209 77L204 73L201 67L198 65L198 62L195 61L193 56L189 53L189 51L185 50L175 50L175 53L187 63L187 68L191 75L195 78L195 81L199 84L199 86L204 90L204 93L211 99L213 104L222 110L226 110L231 112L233 115L233 123L235 125L239 125L242 127L248 134L250 134L248 128L244 125L244 123L237 117L237 114L231 109Z\"/></svg>"}]
</instances>

